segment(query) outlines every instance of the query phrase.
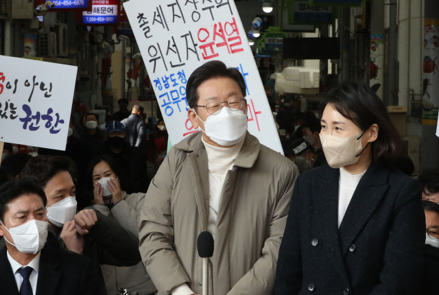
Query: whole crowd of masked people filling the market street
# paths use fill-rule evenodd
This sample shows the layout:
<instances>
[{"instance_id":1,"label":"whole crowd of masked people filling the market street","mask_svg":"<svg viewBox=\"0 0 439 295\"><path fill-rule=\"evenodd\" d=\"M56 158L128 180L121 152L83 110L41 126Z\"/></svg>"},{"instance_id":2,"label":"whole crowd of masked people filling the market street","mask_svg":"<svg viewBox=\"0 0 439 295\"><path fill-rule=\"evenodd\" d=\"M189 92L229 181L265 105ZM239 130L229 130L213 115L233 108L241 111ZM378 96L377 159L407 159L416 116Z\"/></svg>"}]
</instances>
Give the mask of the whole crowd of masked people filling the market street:
<instances>
[{"instance_id":1,"label":"whole crowd of masked people filling the market street","mask_svg":"<svg viewBox=\"0 0 439 295\"><path fill-rule=\"evenodd\" d=\"M126 99L105 130L93 113L72 119L65 151L5 143L5 294L201 294L203 231L211 295L437 294L439 170L415 179L399 164L368 86L325 93L318 117L285 98L285 156L248 132L237 69L195 69L187 102L200 132L169 152L164 121L148 126Z\"/></svg>"}]
</instances>

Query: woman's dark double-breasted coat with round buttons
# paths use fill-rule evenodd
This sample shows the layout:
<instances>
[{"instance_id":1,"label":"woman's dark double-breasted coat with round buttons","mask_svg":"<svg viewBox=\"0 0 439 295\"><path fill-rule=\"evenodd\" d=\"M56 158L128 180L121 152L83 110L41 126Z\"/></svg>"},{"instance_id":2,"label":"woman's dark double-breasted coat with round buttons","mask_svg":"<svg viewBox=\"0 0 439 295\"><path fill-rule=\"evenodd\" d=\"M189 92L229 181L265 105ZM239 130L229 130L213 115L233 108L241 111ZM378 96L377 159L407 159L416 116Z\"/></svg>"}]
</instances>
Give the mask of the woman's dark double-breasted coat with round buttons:
<instances>
[{"instance_id":1,"label":"woman's dark double-breasted coat with round buttons","mask_svg":"<svg viewBox=\"0 0 439 295\"><path fill-rule=\"evenodd\" d=\"M370 165L337 228L339 169L294 186L276 270L276 294L420 294L425 215L420 185Z\"/></svg>"}]
</instances>

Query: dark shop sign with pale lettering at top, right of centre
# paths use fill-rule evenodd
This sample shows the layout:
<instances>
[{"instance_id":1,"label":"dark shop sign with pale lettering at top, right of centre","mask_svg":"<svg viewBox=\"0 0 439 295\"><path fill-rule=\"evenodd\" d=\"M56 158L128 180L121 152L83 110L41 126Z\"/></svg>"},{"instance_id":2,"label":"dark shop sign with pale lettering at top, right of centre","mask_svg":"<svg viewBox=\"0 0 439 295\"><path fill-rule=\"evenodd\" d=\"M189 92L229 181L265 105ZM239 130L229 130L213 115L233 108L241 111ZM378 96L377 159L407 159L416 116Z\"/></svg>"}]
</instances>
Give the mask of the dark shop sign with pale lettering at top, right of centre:
<instances>
[{"instance_id":1,"label":"dark shop sign with pale lettering at top, right of centre","mask_svg":"<svg viewBox=\"0 0 439 295\"><path fill-rule=\"evenodd\" d=\"M331 23L332 6L311 5L309 1L294 1L292 23Z\"/></svg>"}]
</instances>

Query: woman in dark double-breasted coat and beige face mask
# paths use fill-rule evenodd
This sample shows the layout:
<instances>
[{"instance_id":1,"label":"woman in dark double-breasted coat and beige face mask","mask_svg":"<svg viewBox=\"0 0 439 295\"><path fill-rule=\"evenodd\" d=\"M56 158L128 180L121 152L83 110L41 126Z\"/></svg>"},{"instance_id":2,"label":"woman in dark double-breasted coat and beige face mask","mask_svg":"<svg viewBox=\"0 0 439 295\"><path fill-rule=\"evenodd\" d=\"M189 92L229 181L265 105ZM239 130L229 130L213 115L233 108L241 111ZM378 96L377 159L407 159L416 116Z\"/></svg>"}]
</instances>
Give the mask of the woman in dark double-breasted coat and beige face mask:
<instances>
[{"instance_id":1,"label":"woman in dark double-breasted coat and beige face mask","mask_svg":"<svg viewBox=\"0 0 439 295\"><path fill-rule=\"evenodd\" d=\"M420 185L390 165L402 143L364 84L320 108L328 165L294 187L275 294L420 294L425 216Z\"/></svg>"}]
</instances>

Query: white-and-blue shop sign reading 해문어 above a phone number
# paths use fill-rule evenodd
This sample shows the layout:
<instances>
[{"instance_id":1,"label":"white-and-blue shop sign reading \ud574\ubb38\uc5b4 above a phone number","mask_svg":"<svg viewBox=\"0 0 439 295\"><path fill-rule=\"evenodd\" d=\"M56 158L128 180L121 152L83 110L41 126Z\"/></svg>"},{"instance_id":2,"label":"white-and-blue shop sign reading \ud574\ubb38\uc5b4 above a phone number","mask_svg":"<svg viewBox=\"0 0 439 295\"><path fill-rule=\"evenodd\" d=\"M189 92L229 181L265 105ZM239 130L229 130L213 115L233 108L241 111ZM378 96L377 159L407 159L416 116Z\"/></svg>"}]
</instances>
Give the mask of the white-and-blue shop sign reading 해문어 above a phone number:
<instances>
[{"instance_id":1,"label":"white-and-blue shop sign reading \ud574\ubb38\uc5b4 above a phone number","mask_svg":"<svg viewBox=\"0 0 439 295\"><path fill-rule=\"evenodd\" d=\"M115 25L119 14L119 1L92 0L91 11L82 12L84 25Z\"/></svg>"}]
</instances>

